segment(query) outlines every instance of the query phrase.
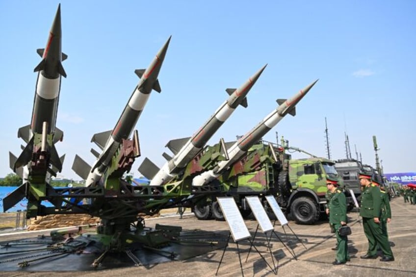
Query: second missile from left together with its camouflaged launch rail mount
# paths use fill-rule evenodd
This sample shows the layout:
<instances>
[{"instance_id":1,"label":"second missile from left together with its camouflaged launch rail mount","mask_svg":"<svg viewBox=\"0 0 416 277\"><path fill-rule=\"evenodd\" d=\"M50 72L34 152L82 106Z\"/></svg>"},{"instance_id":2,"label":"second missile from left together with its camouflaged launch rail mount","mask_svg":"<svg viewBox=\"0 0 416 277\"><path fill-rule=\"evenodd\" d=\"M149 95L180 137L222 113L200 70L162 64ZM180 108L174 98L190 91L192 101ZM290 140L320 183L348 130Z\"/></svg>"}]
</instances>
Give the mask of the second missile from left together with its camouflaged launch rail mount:
<instances>
[{"instance_id":1,"label":"second missile from left together with its camouflaged launch rail mount","mask_svg":"<svg viewBox=\"0 0 416 277\"><path fill-rule=\"evenodd\" d=\"M85 186L96 185L103 175L108 177L120 168L119 174L114 177L122 176L123 173L130 171L132 162L131 158L139 156L139 145L137 132L134 133L132 145L127 147L132 151L132 156L127 157L127 161L120 161L117 155L120 154L120 148L123 146L123 141L126 141L134 126L139 119L142 110L149 99L152 90L161 92L159 81L157 76L165 58L166 51L169 46L171 37L166 41L163 47L156 54L155 59L151 62L149 67L144 69L138 69L135 71L139 76L140 81L134 89L130 100L124 108L120 119L112 130L95 134L91 141L95 142L97 146L103 150L101 154L95 150L91 150L98 158L94 165L91 167L85 161L83 161L78 155L76 155L72 169L83 179L85 179ZM123 165L124 164L124 165ZM127 168L126 168L127 165ZM129 167L130 166L130 167ZM109 168L112 168L111 172L108 172ZM105 182L102 180L103 183Z\"/></svg>"}]
</instances>

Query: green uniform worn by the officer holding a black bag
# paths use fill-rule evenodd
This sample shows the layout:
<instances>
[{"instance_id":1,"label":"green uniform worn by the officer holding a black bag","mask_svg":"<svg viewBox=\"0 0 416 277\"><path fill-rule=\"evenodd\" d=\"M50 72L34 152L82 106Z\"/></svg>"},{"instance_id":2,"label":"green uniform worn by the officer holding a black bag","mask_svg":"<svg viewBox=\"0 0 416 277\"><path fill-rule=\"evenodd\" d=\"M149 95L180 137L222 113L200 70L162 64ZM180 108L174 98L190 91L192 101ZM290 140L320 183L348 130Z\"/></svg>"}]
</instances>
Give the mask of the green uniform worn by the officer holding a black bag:
<instances>
[{"instance_id":1,"label":"green uniform worn by the officer holding a black bag","mask_svg":"<svg viewBox=\"0 0 416 277\"><path fill-rule=\"evenodd\" d=\"M348 255L348 238L340 236L338 228L341 227L341 221L347 222L347 203L345 195L337 189L329 202L329 223L335 227L335 235L338 242L337 260L346 262L350 259Z\"/></svg>"}]
</instances>

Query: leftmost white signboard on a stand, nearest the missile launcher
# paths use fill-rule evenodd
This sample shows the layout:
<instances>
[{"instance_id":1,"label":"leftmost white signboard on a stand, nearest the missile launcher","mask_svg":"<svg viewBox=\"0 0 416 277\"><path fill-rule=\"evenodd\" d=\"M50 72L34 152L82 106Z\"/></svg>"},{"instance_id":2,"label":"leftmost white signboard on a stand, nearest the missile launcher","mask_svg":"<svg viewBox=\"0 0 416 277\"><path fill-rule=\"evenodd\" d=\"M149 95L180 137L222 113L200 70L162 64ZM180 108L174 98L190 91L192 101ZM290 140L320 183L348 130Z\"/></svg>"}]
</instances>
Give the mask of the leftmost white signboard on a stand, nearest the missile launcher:
<instances>
[{"instance_id":1,"label":"leftmost white signboard on a stand, nearest the missile launcher","mask_svg":"<svg viewBox=\"0 0 416 277\"><path fill-rule=\"evenodd\" d=\"M217 197L234 242L251 237L233 197Z\"/></svg>"}]
</instances>

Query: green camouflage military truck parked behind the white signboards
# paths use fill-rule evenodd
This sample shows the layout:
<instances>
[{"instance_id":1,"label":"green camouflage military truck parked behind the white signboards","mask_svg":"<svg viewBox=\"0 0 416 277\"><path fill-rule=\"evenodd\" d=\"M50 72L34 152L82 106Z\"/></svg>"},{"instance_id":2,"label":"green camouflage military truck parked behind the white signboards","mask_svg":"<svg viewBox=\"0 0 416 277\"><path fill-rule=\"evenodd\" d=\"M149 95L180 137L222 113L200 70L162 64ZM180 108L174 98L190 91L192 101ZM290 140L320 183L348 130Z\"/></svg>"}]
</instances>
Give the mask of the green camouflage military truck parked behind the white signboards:
<instances>
[{"instance_id":1,"label":"green camouflage military truck parked behind the white signboards","mask_svg":"<svg viewBox=\"0 0 416 277\"><path fill-rule=\"evenodd\" d=\"M247 155L214 181L224 195L233 196L243 217L251 211L246 196L274 195L286 214L299 224L314 224L325 212L326 177L339 178L335 162L326 158L291 159L282 147L265 141L254 145ZM223 220L217 195L197 202L198 219Z\"/></svg>"}]
</instances>

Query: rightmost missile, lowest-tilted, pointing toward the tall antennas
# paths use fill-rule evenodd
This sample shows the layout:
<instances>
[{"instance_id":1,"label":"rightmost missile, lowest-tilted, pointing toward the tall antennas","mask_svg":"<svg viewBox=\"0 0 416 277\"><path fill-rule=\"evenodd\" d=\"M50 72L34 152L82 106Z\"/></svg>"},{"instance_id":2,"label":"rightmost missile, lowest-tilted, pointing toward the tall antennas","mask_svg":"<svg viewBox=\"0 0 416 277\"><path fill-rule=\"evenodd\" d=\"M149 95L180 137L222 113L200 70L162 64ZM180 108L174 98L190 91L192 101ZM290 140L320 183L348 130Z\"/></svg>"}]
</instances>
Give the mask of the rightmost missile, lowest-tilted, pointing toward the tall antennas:
<instances>
[{"instance_id":1,"label":"rightmost missile, lowest-tilted, pointing toward the tall antennas","mask_svg":"<svg viewBox=\"0 0 416 277\"><path fill-rule=\"evenodd\" d=\"M245 153L249 150L253 144L259 141L259 139L265 135L269 130L276 126L279 121L286 116L287 113L295 115L296 104L309 92L312 86L317 82L307 86L305 89L296 93L294 97L289 100L280 100L277 102L280 104L275 110L268 114L257 126L251 129L248 133L242 136L228 152L229 159L219 161L214 169L205 171L192 179L193 186L202 186L207 184L220 176L225 170L232 166L235 162L238 162Z\"/></svg>"}]
</instances>

